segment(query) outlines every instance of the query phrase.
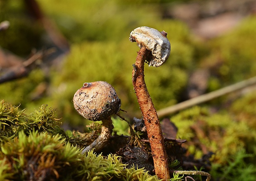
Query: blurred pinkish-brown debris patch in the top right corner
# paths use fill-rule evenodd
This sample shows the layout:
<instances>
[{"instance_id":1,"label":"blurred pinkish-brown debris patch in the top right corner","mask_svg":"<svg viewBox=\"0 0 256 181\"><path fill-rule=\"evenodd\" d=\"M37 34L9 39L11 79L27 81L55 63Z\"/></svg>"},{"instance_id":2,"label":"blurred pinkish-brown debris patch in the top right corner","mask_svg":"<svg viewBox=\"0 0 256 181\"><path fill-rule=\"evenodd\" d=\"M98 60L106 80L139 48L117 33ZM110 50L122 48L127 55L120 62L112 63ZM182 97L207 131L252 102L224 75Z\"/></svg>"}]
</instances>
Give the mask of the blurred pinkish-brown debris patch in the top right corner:
<instances>
[{"instance_id":1,"label":"blurred pinkish-brown debris patch in the top right corner","mask_svg":"<svg viewBox=\"0 0 256 181\"><path fill-rule=\"evenodd\" d=\"M235 28L256 12L255 0L207 0L165 6L163 17L185 22L199 37L210 39Z\"/></svg>"}]
</instances>

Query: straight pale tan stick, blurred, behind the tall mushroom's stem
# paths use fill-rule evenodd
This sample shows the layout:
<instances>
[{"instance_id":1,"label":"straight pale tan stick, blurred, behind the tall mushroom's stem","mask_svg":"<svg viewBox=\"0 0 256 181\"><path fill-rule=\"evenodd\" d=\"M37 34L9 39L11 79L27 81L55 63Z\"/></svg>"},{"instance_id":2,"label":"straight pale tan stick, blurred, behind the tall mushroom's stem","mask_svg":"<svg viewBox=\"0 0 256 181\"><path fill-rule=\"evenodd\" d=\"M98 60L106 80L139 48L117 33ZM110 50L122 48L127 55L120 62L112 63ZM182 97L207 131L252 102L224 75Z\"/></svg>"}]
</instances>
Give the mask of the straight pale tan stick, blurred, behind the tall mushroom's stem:
<instances>
[{"instance_id":1,"label":"straight pale tan stick, blurred, behind the tall mushroom's stem","mask_svg":"<svg viewBox=\"0 0 256 181\"><path fill-rule=\"evenodd\" d=\"M215 90L211 93L207 93L207 94L204 94L204 95L199 95L198 97L194 97L190 100L186 100L184 102L180 102L180 103L175 104L173 106L166 107L164 109L160 109L159 111L157 111L157 114L158 114L159 117L168 116L169 114L175 113L175 112L180 111L182 109L192 107L192 106L200 104L202 102L212 100L216 97L220 97L222 95L240 90L240 89L248 87L248 86L252 86L254 84L256 84L256 77L252 77L251 79L238 82L236 84L221 88L219 90Z\"/></svg>"}]
</instances>

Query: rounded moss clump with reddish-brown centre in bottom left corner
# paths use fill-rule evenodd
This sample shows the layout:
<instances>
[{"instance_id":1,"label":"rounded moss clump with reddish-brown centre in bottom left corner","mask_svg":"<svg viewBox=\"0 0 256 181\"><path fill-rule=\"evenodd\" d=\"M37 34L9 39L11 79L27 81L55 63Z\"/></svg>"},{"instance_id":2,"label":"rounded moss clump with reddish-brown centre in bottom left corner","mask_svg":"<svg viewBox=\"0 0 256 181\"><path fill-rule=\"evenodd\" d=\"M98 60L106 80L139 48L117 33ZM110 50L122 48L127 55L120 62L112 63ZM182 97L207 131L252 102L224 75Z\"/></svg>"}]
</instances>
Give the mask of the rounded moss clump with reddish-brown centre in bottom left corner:
<instances>
[{"instance_id":1,"label":"rounded moss clump with reddish-brown centre in bottom left corner","mask_svg":"<svg viewBox=\"0 0 256 181\"><path fill-rule=\"evenodd\" d=\"M65 143L62 136L38 131L29 132L28 136L19 132L18 137L1 146L0 153L1 160L12 165L12 176L7 175L6 179L13 180L68 180L77 168L78 155L78 149Z\"/></svg>"}]
</instances>

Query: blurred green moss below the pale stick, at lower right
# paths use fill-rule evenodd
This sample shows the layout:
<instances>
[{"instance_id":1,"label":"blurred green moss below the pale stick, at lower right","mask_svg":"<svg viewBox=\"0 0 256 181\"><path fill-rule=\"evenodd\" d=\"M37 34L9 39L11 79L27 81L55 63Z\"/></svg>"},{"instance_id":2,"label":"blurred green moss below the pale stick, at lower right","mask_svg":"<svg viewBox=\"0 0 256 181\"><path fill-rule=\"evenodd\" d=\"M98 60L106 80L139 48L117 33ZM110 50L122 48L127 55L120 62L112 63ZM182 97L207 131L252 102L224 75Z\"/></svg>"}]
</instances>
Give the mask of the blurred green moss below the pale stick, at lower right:
<instances>
[{"instance_id":1,"label":"blurred green moss below the pale stick, at lower right","mask_svg":"<svg viewBox=\"0 0 256 181\"><path fill-rule=\"evenodd\" d=\"M211 174L216 180L256 179L256 127L247 120L254 115L249 104L254 99L254 95L242 97L230 110L214 114L205 107L192 107L172 118L177 136L187 139L183 144L187 154L204 159L213 153Z\"/></svg>"}]
</instances>

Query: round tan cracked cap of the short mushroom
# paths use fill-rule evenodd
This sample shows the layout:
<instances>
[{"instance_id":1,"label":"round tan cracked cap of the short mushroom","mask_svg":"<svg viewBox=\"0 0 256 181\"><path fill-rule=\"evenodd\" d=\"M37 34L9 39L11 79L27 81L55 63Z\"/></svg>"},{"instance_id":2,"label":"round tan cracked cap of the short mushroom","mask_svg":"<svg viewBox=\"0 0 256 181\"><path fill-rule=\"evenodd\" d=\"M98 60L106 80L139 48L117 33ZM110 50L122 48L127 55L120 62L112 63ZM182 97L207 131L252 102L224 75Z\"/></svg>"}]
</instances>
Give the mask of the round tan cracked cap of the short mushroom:
<instances>
[{"instance_id":1,"label":"round tan cracked cap of the short mushroom","mask_svg":"<svg viewBox=\"0 0 256 181\"><path fill-rule=\"evenodd\" d=\"M91 121L101 121L120 111L121 100L107 82L84 83L73 97L78 114Z\"/></svg>"}]
</instances>

